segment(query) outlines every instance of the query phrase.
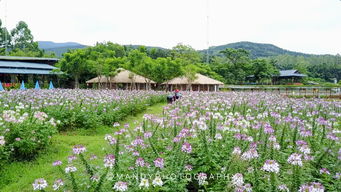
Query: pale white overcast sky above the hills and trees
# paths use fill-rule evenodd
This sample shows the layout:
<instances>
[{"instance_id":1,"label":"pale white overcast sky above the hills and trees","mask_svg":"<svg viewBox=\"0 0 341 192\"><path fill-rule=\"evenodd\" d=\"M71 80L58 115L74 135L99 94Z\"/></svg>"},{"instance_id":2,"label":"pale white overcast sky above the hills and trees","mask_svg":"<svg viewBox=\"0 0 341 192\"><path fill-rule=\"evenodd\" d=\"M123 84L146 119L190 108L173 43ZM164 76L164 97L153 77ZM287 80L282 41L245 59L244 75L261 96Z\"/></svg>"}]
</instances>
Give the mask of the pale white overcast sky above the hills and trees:
<instances>
[{"instance_id":1,"label":"pale white overcast sky above the hills and trees","mask_svg":"<svg viewBox=\"0 0 341 192\"><path fill-rule=\"evenodd\" d=\"M35 41L341 54L341 0L0 0L0 18L9 29L25 21Z\"/></svg>"}]
</instances>

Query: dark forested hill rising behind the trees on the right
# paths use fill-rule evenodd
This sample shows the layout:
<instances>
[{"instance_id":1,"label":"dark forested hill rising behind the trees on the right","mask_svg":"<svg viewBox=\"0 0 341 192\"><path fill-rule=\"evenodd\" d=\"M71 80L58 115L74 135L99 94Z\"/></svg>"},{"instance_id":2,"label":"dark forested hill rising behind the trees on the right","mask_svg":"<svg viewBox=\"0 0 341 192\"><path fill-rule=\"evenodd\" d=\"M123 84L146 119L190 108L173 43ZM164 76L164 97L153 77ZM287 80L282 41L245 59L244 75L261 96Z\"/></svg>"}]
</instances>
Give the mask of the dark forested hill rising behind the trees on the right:
<instances>
[{"instance_id":1,"label":"dark forested hill rising behind the trees on the right","mask_svg":"<svg viewBox=\"0 0 341 192\"><path fill-rule=\"evenodd\" d=\"M250 51L251 57L272 57L278 55L291 55L291 56L313 56L311 54L299 53L294 51L289 51L277 47L272 44L264 44L264 43L252 43L247 41L230 43L226 45L212 46L210 47L210 55L219 55L219 52L225 50L226 48L233 49L245 49ZM200 52L206 53L207 50L201 50Z\"/></svg>"}]
</instances>

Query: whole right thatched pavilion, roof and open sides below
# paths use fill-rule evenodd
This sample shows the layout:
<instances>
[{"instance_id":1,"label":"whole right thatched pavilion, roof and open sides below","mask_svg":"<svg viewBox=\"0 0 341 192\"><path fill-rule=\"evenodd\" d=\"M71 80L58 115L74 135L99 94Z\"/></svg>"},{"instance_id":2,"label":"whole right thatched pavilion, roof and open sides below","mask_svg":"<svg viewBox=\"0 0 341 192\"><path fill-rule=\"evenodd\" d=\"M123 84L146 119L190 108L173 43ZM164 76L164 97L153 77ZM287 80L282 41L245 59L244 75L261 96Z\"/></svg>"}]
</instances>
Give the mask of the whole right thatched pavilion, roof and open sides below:
<instances>
[{"instance_id":1,"label":"whole right thatched pavilion, roof and open sides below","mask_svg":"<svg viewBox=\"0 0 341 192\"><path fill-rule=\"evenodd\" d=\"M192 82L190 82L188 78L182 76L169 80L163 83L163 85L168 86L168 89L170 91L174 89L193 91L217 91L219 89L219 85L224 85L223 82L217 81L199 73L197 73L195 76L196 79Z\"/></svg>"}]
</instances>

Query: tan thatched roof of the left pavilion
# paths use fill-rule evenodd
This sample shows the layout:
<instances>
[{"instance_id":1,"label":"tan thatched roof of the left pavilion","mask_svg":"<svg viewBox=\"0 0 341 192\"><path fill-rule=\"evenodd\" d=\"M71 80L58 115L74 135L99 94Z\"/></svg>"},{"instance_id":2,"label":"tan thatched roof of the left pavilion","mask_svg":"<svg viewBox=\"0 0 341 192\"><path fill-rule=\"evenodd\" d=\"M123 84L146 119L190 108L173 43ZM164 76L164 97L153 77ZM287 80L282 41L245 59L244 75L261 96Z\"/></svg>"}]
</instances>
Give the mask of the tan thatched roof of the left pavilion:
<instances>
[{"instance_id":1,"label":"tan thatched roof of the left pavilion","mask_svg":"<svg viewBox=\"0 0 341 192\"><path fill-rule=\"evenodd\" d=\"M141 75L138 75L134 72L131 72L129 70L125 70L125 69L118 69L120 72L117 73L117 75L115 77L105 77L105 76L98 76L98 77L95 77L93 79L90 79L88 81L86 81L86 83L109 83L109 81L111 81L112 83L132 83L132 82L135 82L135 83L147 83L147 82L150 82L150 83L155 83L154 81L146 78L146 77L143 77ZM129 78L129 77L132 77ZM109 80L109 81L108 81Z\"/></svg>"}]
</instances>

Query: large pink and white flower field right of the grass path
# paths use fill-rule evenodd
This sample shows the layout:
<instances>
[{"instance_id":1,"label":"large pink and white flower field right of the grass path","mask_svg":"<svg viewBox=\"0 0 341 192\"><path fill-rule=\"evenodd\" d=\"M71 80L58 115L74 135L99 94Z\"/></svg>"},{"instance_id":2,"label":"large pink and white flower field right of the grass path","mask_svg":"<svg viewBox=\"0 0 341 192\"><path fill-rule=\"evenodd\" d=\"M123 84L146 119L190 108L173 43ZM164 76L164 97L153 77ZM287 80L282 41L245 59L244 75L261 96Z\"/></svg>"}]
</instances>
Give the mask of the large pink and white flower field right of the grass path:
<instances>
[{"instance_id":1,"label":"large pink and white flower field right of the grass path","mask_svg":"<svg viewBox=\"0 0 341 192\"><path fill-rule=\"evenodd\" d=\"M34 190L341 191L341 102L267 93L186 93L113 126L106 155L70 149Z\"/></svg>"}]
</instances>

